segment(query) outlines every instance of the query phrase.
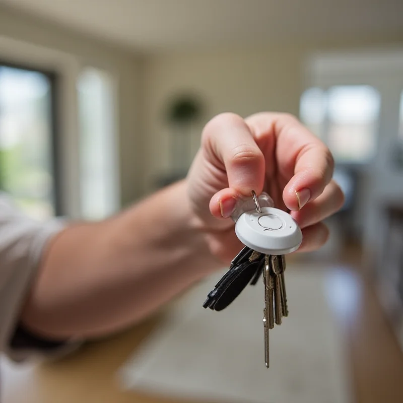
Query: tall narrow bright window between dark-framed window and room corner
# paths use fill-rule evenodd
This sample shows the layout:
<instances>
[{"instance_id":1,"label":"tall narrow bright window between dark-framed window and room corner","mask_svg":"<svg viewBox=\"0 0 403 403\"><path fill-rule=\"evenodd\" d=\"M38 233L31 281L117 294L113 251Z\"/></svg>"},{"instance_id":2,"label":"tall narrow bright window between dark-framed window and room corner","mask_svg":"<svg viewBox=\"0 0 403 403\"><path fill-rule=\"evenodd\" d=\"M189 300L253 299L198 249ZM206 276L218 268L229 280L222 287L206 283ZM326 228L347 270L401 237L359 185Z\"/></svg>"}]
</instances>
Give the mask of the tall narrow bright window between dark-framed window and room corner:
<instances>
[{"instance_id":1,"label":"tall narrow bright window between dark-framed window and room corner","mask_svg":"<svg viewBox=\"0 0 403 403\"><path fill-rule=\"evenodd\" d=\"M113 80L88 68L79 78L81 215L103 219L119 208Z\"/></svg>"}]
</instances>

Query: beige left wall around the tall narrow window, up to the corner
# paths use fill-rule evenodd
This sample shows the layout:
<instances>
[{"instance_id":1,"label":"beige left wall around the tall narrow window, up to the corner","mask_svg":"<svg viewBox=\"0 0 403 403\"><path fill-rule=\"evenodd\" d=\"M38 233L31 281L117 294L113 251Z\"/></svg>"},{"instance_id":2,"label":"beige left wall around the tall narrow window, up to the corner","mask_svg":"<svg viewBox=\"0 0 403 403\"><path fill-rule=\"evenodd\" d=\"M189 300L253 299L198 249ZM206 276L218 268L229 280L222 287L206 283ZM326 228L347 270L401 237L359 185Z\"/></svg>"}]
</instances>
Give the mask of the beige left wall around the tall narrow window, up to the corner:
<instances>
[{"instance_id":1,"label":"beige left wall around the tall narrow window, up to the corner","mask_svg":"<svg viewBox=\"0 0 403 403\"><path fill-rule=\"evenodd\" d=\"M0 6L0 37L16 41L15 47L19 49L13 52L13 45L7 47L5 45L7 41L1 42L0 59L20 63L33 60L35 65L42 65L44 69L48 68L50 60L57 59L55 63L51 62L49 67L59 70L64 92L72 91L68 101L66 101L65 94L62 94L64 112L68 107L70 109L75 107L73 79L83 66L92 65L115 74L119 104L117 123L122 203L126 204L141 196L143 190L139 172L141 172L143 152L141 137L137 130L139 127L139 98L141 97L138 58L128 50L75 34L56 25L10 11L2 6ZM25 46L25 44L30 46ZM46 49L46 52L43 49ZM49 57L43 57L43 55L49 55ZM70 105L65 105L66 102L70 102ZM69 115L69 119L74 119L74 116L75 114L72 113ZM77 135L76 125L66 120L62 120L62 123L61 135L64 138L72 138ZM65 152L66 150L63 149L63 154ZM74 182L77 182L78 172L75 167L77 163L74 160L77 161L77 155L71 156L69 163L63 166L64 170L71 171L70 186L64 191L64 199L69 199L69 193L74 192ZM69 180L66 181L69 183ZM77 206L74 204L77 204L77 200L72 200L66 208L68 213L73 216L77 213Z\"/></svg>"}]
</instances>

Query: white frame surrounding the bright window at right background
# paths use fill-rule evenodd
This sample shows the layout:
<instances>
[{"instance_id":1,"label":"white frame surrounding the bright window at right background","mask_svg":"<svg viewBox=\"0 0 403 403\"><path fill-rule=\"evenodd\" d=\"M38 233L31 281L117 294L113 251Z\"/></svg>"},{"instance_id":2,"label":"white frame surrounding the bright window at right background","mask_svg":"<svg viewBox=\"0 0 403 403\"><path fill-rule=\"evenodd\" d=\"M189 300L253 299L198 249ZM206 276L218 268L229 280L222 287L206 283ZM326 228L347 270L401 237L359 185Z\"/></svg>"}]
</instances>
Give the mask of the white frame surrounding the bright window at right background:
<instances>
[{"instance_id":1,"label":"white frame surrounding the bright window at right background","mask_svg":"<svg viewBox=\"0 0 403 403\"><path fill-rule=\"evenodd\" d=\"M380 94L376 143L378 153L375 159L362 163L340 161L337 165L365 171L374 163L382 171L387 171L388 148L398 139L402 69L403 49L341 50L313 53L307 57L301 94L312 87L327 91L330 87L349 85L371 86Z\"/></svg>"}]
</instances>

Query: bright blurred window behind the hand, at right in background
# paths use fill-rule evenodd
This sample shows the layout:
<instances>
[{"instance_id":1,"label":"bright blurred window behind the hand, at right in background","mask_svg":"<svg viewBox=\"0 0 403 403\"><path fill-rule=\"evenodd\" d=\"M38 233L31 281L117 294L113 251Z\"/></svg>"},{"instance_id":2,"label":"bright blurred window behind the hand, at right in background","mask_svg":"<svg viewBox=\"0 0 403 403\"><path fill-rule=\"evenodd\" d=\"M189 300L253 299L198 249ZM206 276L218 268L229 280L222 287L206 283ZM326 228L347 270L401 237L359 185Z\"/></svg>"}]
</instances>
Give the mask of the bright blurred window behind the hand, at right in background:
<instances>
[{"instance_id":1,"label":"bright blurred window behind the hand, at right in background","mask_svg":"<svg viewBox=\"0 0 403 403\"><path fill-rule=\"evenodd\" d=\"M371 86L310 88L301 119L330 148L337 162L365 163L376 153L379 93Z\"/></svg>"}]
</instances>

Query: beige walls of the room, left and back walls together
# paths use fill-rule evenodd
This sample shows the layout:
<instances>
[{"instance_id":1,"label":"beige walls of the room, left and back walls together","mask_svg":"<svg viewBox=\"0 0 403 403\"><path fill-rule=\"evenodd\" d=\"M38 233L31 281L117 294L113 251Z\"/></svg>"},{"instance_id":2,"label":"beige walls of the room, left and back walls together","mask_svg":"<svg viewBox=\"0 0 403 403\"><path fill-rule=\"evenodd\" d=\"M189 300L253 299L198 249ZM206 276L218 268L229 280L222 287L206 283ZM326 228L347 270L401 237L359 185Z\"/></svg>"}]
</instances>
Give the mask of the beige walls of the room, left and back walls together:
<instances>
[{"instance_id":1,"label":"beige walls of the room, left and back walls together","mask_svg":"<svg viewBox=\"0 0 403 403\"><path fill-rule=\"evenodd\" d=\"M217 113L232 111L246 116L278 110L298 114L303 63L312 51L403 44L403 36L396 35L140 57L1 6L0 36L56 49L73 56L79 67L90 64L116 74L123 205L152 191L157 177L170 167L170 130L162 113L172 95L191 90L205 103L203 122L192 132L194 154L203 123ZM3 50L0 42L0 58ZM73 136L75 127L69 121L64 123L63 136Z\"/></svg>"}]
</instances>

